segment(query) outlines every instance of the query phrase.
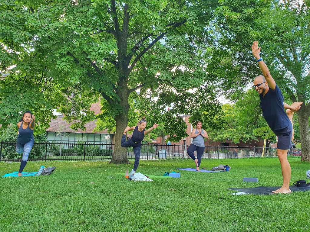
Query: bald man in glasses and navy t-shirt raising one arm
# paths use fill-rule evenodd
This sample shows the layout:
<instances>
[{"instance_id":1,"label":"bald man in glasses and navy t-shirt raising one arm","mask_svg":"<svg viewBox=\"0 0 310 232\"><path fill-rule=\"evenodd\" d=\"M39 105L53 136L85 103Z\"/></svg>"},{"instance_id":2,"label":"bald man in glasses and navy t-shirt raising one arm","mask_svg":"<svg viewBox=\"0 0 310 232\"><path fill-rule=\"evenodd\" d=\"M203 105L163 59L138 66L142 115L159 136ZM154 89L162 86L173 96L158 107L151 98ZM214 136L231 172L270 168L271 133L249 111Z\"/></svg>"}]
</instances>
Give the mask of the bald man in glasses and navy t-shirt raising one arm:
<instances>
[{"instance_id":1,"label":"bald man in glasses and navy t-shirt raising one arm","mask_svg":"<svg viewBox=\"0 0 310 232\"><path fill-rule=\"evenodd\" d=\"M284 102L284 97L280 88L270 75L267 65L260 57L261 47L258 47L258 42L254 41L252 45L253 56L259 63L259 68L263 72L263 76L257 76L254 79L253 88L259 93L260 108L263 111L263 117L270 129L277 135L277 155L280 160L283 185L273 193L290 193L290 177L291 168L287 160L287 152L291 147L291 142L294 139L293 115L299 110L302 102L294 102L288 105ZM284 111L284 108L287 109Z\"/></svg>"}]
</instances>

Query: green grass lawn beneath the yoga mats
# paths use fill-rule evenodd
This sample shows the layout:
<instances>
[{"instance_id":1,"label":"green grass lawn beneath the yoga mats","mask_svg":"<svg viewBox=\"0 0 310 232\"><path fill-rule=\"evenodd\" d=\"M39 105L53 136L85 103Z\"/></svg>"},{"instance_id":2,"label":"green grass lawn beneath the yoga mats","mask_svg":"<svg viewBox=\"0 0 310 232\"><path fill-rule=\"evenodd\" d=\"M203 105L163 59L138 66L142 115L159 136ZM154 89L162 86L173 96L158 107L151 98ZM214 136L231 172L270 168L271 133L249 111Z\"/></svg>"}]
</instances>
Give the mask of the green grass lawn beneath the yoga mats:
<instances>
[{"instance_id":1,"label":"green grass lawn beneath the yoga mats","mask_svg":"<svg viewBox=\"0 0 310 232\"><path fill-rule=\"evenodd\" d=\"M310 163L289 159L291 184ZM140 161L138 171L163 175L194 168L192 160ZM25 172L56 166L50 176L0 178L0 231L310 231L310 191L288 195L230 195L230 187L281 186L277 158L204 159L231 171L179 170L181 178L128 181L132 165L107 162L28 162ZM19 163L0 163L0 176ZM117 173L124 173L119 175ZM114 177L114 178L110 178ZM258 177L246 183L242 177ZM307 180L309 181L309 179Z\"/></svg>"}]
</instances>

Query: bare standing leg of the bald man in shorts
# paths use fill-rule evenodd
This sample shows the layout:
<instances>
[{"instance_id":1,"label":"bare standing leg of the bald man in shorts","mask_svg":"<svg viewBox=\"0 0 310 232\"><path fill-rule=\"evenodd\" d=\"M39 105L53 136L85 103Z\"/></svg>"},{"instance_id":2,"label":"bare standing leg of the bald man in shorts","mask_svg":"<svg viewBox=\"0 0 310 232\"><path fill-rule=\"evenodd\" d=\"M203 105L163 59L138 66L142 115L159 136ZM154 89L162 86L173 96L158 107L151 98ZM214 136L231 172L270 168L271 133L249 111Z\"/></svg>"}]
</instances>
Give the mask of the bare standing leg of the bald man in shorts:
<instances>
[{"instance_id":1,"label":"bare standing leg of the bald man in shorts","mask_svg":"<svg viewBox=\"0 0 310 232\"><path fill-rule=\"evenodd\" d=\"M291 169L290 169L290 163L287 160L287 156L286 156L287 152L288 150L277 149L278 158L281 164L283 185L281 188L277 189L276 191L272 191L273 193L291 193L292 192L290 190Z\"/></svg>"}]
</instances>

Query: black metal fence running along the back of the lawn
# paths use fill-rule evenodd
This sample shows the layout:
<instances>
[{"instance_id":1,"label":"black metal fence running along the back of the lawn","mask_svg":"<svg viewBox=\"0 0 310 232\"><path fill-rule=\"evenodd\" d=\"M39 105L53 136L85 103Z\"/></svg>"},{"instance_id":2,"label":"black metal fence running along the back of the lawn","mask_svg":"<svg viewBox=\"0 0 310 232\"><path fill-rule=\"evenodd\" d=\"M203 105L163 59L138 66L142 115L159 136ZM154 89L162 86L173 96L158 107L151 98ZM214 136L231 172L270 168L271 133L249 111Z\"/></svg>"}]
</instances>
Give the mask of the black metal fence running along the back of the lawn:
<instances>
[{"instance_id":1,"label":"black metal fence running along the back of the lawn","mask_svg":"<svg viewBox=\"0 0 310 232\"><path fill-rule=\"evenodd\" d=\"M29 161L85 161L110 160L113 155L114 144L101 143L34 143ZM185 145L142 144L140 159L190 159ZM234 151L238 148L237 155ZM301 149L291 148L288 156L300 156ZM1 142L0 161L20 161L21 154L16 152L16 143ZM127 157L134 159L133 148L127 148ZM251 158L277 157L277 148L263 147L222 147L206 146L202 158Z\"/></svg>"}]
</instances>

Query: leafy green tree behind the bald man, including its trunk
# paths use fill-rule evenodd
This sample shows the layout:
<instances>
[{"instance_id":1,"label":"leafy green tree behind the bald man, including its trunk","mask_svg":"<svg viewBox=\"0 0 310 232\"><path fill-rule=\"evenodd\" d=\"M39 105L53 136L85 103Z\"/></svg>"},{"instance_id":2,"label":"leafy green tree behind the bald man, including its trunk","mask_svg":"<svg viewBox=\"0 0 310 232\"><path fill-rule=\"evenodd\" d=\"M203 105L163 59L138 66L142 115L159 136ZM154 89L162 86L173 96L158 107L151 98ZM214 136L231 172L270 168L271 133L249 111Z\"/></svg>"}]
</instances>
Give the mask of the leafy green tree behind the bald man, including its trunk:
<instances>
[{"instance_id":1,"label":"leafy green tree behind the bald man, including its trunk","mask_svg":"<svg viewBox=\"0 0 310 232\"><path fill-rule=\"evenodd\" d=\"M219 24L218 41L229 48L219 60L234 71L234 75L225 78L221 74L226 80L221 89L228 97L237 99L246 84L261 73L250 53L252 42L259 40L261 55L282 93L291 102L303 102L297 112L301 159L310 161L309 1L250 1L250 7L245 8L243 2L222 0L220 5L216 13L226 20ZM259 17L254 8L261 9Z\"/></svg>"}]
</instances>

